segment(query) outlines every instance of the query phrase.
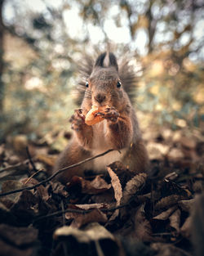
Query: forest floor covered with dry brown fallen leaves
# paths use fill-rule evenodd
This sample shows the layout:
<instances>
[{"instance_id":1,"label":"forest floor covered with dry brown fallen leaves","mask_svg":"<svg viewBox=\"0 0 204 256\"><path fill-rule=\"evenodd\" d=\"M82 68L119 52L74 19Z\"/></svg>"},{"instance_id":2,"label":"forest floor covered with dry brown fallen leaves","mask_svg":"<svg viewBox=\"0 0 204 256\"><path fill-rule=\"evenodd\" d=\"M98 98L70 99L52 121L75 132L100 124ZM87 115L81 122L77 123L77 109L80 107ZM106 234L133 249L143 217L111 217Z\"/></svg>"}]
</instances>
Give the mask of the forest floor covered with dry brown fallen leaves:
<instances>
[{"instance_id":1,"label":"forest floor covered with dry brown fallen leaves","mask_svg":"<svg viewBox=\"0 0 204 256\"><path fill-rule=\"evenodd\" d=\"M0 255L202 255L204 133L149 129L148 174L115 162L66 185L47 174L60 139L0 145Z\"/></svg>"}]
</instances>

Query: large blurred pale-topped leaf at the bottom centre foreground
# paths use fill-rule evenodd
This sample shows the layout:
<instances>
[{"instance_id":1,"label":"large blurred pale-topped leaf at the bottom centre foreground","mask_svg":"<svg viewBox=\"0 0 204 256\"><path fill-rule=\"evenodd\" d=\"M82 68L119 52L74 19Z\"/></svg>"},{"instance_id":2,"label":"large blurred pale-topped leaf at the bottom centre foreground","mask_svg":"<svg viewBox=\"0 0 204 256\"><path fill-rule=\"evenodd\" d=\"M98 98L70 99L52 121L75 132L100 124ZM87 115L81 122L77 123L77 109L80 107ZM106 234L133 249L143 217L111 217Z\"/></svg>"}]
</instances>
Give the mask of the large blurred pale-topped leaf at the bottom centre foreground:
<instances>
[{"instance_id":1,"label":"large blurred pale-topped leaf at the bottom centre foreground","mask_svg":"<svg viewBox=\"0 0 204 256\"><path fill-rule=\"evenodd\" d=\"M64 255L60 243L64 243L68 255L118 255L118 244L114 236L99 223L90 223L82 230L73 227L60 227L53 235L54 254ZM74 246L73 246L74 245Z\"/></svg>"}]
</instances>

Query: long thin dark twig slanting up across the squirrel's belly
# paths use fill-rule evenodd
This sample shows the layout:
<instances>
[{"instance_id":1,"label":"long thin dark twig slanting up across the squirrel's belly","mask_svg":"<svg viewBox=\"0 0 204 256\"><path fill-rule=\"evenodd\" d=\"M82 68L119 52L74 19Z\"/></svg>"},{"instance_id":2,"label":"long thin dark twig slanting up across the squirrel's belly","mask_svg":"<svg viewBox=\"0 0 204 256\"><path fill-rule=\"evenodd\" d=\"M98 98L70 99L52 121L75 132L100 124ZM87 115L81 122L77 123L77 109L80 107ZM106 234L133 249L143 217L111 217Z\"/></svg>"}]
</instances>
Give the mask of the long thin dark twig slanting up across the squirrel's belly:
<instances>
[{"instance_id":1,"label":"long thin dark twig slanting up across the squirrel's belly","mask_svg":"<svg viewBox=\"0 0 204 256\"><path fill-rule=\"evenodd\" d=\"M81 165L81 164L84 164L84 163L86 163L86 162L89 162L89 161L91 161L91 160L93 160L93 159L95 159L95 158L98 158L98 157L100 157L100 156L106 155L106 154L108 154L108 153L111 152L111 151L113 151L113 149L107 150L107 151L105 151L104 153L101 153L101 154L99 154L99 155L95 155L95 156L86 158L86 159L82 160L81 162L78 162L77 164L72 164L72 165L69 165L69 166L67 166L67 167L65 167L65 168L61 168L61 169L58 170L56 173L53 173L53 174L51 175L51 177L48 177L47 179L43 180L42 182L39 182L39 183L36 184L36 185L27 186L27 187L22 187L22 188L20 188L20 189L14 190L14 191L8 191L8 192L5 192L5 193L1 193L1 194L0 194L0 197L1 197L1 196L5 196L5 195L15 194L15 193L22 192L22 191L31 191L33 188L36 188L36 187L41 186L41 185L45 185L47 182L50 182L54 177L56 177L56 176L57 176L58 174L60 174L60 173L63 173L64 171L66 171L66 170L68 170L68 169L70 169L70 168L77 167L77 166L79 166L79 165Z\"/></svg>"}]
</instances>

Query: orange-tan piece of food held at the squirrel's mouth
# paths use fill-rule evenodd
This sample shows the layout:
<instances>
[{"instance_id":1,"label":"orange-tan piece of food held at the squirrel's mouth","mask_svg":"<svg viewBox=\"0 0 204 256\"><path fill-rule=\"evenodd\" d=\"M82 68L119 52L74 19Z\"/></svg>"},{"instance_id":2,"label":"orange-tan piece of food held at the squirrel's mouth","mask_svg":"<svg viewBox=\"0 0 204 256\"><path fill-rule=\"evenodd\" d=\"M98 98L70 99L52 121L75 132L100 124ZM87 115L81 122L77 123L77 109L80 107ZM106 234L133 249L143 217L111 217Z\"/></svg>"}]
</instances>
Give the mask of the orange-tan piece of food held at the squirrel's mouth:
<instances>
[{"instance_id":1,"label":"orange-tan piece of food held at the squirrel's mouth","mask_svg":"<svg viewBox=\"0 0 204 256\"><path fill-rule=\"evenodd\" d=\"M85 123L87 125L94 125L104 120L103 112L109 108L109 106L91 106L91 110L86 114ZM97 115L99 114L99 115Z\"/></svg>"}]
</instances>

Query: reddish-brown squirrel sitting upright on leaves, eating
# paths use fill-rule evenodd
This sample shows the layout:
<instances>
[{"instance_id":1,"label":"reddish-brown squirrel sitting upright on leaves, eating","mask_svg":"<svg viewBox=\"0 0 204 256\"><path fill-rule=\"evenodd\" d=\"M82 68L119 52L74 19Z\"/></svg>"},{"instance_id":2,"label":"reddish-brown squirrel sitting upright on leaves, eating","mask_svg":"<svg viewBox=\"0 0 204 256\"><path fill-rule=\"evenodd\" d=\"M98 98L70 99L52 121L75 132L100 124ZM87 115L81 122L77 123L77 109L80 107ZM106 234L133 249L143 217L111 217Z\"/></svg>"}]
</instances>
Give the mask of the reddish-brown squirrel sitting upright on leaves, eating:
<instances>
[{"instance_id":1,"label":"reddish-brown squirrel sitting upright on leaves, eating","mask_svg":"<svg viewBox=\"0 0 204 256\"><path fill-rule=\"evenodd\" d=\"M81 108L75 110L71 118L73 138L57 159L53 172L109 149L114 150L60 173L58 179L65 183L75 175L83 176L86 170L104 172L114 161L121 161L135 173L145 172L149 165L147 150L135 109L124 90L135 79L128 63L118 67L113 53L104 52L98 56L88 75ZM86 114L92 106L103 107L105 115L100 123L87 125Z\"/></svg>"}]
</instances>

